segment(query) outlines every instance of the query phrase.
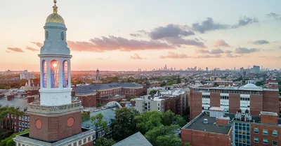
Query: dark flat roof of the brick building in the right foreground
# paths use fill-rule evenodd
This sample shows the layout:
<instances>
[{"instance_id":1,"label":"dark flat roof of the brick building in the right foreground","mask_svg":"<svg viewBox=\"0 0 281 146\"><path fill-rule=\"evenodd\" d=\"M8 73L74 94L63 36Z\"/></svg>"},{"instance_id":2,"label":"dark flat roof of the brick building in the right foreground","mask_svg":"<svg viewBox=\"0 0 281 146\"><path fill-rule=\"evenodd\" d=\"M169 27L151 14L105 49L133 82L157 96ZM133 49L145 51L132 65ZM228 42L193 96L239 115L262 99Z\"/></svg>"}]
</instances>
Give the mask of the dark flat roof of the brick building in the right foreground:
<instances>
[{"instance_id":1,"label":"dark flat roof of the brick building in the right foreground","mask_svg":"<svg viewBox=\"0 0 281 146\"><path fill-rule=\"evenodd\" d=\"M203 119L208 119L208 124L203 123ZM189 126L185 127L185 129L191 129L196 131L206 131L211 133L221 133L228 134L230 131L231 125L229 126L217 126L214 124L216 122L216 117L209 117L207 113L202 113L202 115L196 119Z\"/></svg>"}]
</instances>

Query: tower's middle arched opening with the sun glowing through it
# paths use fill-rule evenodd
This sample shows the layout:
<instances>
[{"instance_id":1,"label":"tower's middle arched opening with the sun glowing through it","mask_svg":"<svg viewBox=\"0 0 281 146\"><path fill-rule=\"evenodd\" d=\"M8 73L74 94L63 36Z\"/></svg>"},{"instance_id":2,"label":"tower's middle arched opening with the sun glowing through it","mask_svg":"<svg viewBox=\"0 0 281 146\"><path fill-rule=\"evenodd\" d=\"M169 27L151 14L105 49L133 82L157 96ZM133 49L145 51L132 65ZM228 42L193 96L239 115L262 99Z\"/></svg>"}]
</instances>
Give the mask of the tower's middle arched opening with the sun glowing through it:
<instances>
[{"instance_id":1,"label":"tower's middle arched opening with the sun glowing through it","mask_svg":"<svg viewBox=\"0 0 281 146\"><path fill-rule=\"evenodd\" d=\"M58 88L58 61L51 61L51 87Z\"/></svg>"}]
</instances>

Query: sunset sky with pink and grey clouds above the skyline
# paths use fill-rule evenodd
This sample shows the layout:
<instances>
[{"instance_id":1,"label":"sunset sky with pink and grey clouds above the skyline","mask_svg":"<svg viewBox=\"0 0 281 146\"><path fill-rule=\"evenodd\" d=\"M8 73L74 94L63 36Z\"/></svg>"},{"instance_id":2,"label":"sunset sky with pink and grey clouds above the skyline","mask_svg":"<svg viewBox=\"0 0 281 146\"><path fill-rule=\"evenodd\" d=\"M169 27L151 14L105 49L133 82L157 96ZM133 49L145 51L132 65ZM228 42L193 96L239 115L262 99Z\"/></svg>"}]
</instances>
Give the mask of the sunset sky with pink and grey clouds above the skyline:
<instances>
[{"instance_id":1,"label":"sunset sky with pink and grey clouds above the skyline","mask_svg":"<svg viewBox=\"0 0 281 146\"><path fill-rule=\"evenodd\" d=\"M39 71L52 0L1 1L0 71ZM281 68L281 1L58 0L72 70Z\"/></svg>"}]
</instances>

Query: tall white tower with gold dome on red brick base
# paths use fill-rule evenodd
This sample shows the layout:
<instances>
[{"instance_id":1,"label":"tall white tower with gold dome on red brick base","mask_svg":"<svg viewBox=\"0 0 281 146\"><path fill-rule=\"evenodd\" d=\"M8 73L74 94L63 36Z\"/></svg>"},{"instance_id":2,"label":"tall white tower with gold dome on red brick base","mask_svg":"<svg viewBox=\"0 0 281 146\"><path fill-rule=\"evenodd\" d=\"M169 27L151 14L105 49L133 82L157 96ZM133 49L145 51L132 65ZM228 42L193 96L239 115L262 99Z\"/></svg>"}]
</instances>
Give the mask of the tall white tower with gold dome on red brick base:
<instances>
[{"instance_id":1,"label":"tall white tower with gold dome on red brick base","mask_svg":"<svg viewBox=\"0 0 281 146\"><path fill-rule=\"evenodd\" d=\"M67 47L65 20L58 15L56 2L46 19L45 41L39 54L40 102L28 106L30 132L13 139L17 146L93 145L95 138L95 131L81 129L81 103L72 102L72 55Z\"/></svg>"}]
</instances>

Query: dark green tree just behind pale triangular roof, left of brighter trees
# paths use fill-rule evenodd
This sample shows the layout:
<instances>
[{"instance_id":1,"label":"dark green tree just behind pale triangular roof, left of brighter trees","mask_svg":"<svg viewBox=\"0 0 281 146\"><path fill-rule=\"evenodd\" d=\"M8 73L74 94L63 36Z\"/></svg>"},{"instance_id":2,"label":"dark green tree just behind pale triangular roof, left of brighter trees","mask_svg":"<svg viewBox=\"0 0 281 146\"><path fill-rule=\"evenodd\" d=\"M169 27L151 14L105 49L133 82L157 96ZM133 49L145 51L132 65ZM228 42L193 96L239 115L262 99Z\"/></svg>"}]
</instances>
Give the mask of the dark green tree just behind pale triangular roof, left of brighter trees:
<instances>
[{"instance_id":1,"label":"dark green tree just behind pale triangular roof, left of brighter trees","mask_svg":"<svg viewBox=\"0 0 281 146\"><path fill-rule=\"evenodd\" d=\"M120 108L115 111L115 122L113 122L113 139L123 140L136 133L136 121L133 117L140 115L133 108Z\"/></svg>"}]
</instances>

